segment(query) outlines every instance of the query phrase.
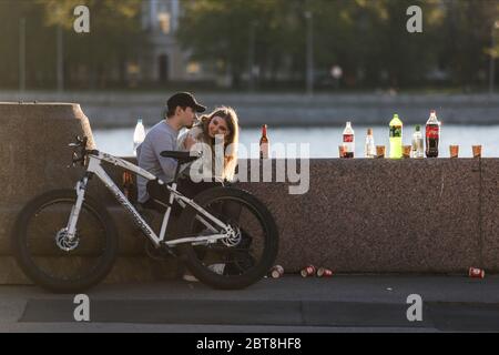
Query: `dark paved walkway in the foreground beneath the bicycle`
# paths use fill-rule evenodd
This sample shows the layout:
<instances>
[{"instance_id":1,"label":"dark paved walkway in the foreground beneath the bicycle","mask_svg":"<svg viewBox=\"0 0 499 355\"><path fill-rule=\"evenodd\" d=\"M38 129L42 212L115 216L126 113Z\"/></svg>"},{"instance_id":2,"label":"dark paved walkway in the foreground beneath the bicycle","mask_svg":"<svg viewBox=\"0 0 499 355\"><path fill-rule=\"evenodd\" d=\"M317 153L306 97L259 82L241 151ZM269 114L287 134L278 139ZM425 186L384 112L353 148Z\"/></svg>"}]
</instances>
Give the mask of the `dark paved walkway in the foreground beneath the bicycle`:
<instances>
[{"instance_id":1,"label":"dark paved walkway in the foreground beneath the bicycle","mask_svg":"<svg viewBox=\"0 0 499 355\"><path fill-rule=\"evenodd\" d=\"M422 298L409 322L407 297ZM0 287L0 332L498 332L499 276L266 278L242 291L198 283L100 285L88 292L90 323L73 295Z\"/></svg>"}]
</instances>

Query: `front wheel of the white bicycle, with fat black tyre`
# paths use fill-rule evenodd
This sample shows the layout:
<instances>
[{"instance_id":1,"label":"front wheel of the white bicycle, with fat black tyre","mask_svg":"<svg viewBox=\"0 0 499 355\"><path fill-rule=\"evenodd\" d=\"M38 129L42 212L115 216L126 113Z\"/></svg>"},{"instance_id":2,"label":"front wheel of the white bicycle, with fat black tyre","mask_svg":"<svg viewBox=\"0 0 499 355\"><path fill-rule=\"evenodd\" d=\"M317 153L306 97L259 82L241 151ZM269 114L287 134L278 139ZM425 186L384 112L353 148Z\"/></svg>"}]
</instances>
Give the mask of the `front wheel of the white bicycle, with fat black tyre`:
<instances>
[{"instance_id":1,"label":"front wheel of the white bicycle, with fat black tyre","mask_svg":"<svg viewBox=\"0 0 499 355\"><path fill-rule=\"evenodd\" d=\"M102 281L118 254L118 234L105 207L85 196L73 240L65 227L74 190L49 191L20 212L12 233L14 256L35 284L58 293L77 293Z\"/></svg>"}]
</instances>

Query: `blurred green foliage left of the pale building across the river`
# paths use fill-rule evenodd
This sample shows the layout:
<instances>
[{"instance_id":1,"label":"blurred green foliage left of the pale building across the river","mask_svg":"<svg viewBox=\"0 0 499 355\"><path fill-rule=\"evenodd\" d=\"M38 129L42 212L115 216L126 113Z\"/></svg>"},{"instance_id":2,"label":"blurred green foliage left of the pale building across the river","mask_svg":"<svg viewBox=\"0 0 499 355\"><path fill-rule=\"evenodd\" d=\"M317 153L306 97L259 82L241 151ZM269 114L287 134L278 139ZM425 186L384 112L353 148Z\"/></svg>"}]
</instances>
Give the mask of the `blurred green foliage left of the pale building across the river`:
<instances>
[{"instance_id":1,"label":"blurred green foliage left of the pale building across the river","mask_svg":"<svg viewBox=\"0 0 499 355\"><path fill-rule=\"evenodd\" d=\"M125 63L145 45L141 0L2 0L0 1L0 87L18 85L19 28L26 19L29 88L55 85L57 28L63 30L65 81L73 87L105 87L116 72L124 80ZM90 33L75 33L73 10L90 9Z\"/></svg>"}]
</instances>

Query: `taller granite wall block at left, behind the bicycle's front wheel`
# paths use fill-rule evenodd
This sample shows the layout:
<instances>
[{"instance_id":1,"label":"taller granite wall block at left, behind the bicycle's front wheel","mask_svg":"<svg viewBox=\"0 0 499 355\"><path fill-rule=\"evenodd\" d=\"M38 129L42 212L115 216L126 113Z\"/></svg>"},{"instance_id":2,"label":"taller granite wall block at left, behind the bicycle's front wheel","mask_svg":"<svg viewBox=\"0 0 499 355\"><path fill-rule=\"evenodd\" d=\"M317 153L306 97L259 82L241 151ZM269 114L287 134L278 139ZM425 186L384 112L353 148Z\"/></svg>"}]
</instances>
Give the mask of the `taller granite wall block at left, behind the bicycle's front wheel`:
<instances>
[{"instance_id":1,"label":"taller granite wall block at left, behind the bicycle's front wheel","mask_svg":"<svg viewBox=\"0 0 499 355\"><path fill-rule=\"evenodd\" d=\"M79 104L0 102L0 284L28 282L10 251L13 221L22 206L48 190L72 189L82 176L81 166L69 169L71 150L68 144L75 135L86 135L89 148L94 148L89 119ZM95 187L92 186L90 193L95 194ZM121 225L122 216L113 215ZM123 239L132 240L126 237L131 233L133 231L125 227ZM122 243L125 252L133 252L123 253L109 281L172 275L171 262L152 262L144 255L141 242L136 240L131 246Z\"/></svg>"}]
</instances>

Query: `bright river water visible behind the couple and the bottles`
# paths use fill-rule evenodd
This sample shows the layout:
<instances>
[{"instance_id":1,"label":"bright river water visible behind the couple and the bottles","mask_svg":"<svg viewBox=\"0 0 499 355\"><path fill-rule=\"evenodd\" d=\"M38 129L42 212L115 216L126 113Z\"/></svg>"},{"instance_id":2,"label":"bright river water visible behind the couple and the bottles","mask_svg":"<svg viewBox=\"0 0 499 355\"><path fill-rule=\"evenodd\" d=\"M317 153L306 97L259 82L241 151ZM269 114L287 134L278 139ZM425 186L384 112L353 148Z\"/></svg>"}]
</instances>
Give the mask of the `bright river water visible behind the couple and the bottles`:
<instances>
[{"instance_id":1,"label":"bright river water visible behind the couple and the bottles","mask_svg":"<svg viewBox=\"0 0 499 355\"><path fill-rule=\"evenodd\" d=\"M343 126L268 128L271 154L286 158L338 158ZM364 156L367 126L355 126L355 156ZM133 131L130 129L94 130L98 149L119 156L133 155ZM146 128L147 131L147 128ZM376 145L389 146L388 128L373 126ZM404 128L404 144L410 144L414 126ZM240 158L258 158L259 129L242 129ZM279 144L276 144L279 143ZM482 156L499 156L499 125L442 125L439 156L449 156L449 144L459 145L459 156L470 158L471 145L482 145ZM272 150L276 152L273 153Z\"/></svg>"}]
</instances>

